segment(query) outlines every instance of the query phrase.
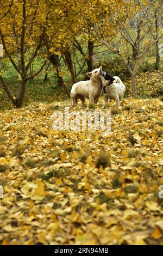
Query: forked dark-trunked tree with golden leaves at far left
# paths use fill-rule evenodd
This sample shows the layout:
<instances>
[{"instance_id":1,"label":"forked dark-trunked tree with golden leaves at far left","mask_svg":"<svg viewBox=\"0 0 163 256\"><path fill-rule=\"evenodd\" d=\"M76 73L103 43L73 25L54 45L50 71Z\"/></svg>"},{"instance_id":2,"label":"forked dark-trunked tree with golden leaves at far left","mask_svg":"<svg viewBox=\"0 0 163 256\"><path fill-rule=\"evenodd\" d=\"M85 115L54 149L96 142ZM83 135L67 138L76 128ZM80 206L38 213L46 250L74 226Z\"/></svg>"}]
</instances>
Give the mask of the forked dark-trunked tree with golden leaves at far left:
<instances>
[{"instance_id":1,"label":"forked dark-trunked tree with golden leaves at far left","mask_svg":"<svg viewBox=\"0 0 163 256\"><path fill-rule=\"evenodd\" d=\"M3 72L1 72L0 81L15 107L22 105L27 81L39 74L47 62L43 59L40 68L32 75L30 74L30 67L37 59L46 29L46 17L40 19L42 4L43 2L39 0L16 0L14 4L12 2L5 4L7 15L4 16L1 13L0 40L5 57L21 77L17 95L12 94L5 82ZM2 2L0 7L4 8Z\"/></svg>"}]
</instances>

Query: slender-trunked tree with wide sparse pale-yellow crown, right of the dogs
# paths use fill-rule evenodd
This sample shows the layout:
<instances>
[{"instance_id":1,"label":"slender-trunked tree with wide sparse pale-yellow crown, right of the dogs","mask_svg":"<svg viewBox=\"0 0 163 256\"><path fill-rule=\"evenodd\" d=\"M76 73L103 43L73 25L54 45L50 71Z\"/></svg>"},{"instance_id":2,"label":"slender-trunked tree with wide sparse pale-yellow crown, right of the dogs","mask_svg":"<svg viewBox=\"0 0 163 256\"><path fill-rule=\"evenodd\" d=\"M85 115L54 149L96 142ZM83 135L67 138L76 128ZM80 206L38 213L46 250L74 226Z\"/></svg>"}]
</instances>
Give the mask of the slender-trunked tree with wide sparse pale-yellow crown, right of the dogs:
<instances>
[{"instance_id":1,"label":"slender-trunked tree with wide sparse pale-yellow crown, right of the dogs","mask_svg":"<svg viewBox=\"0 0 163 256\"><path fill-rule=\"evenodd\" d=\"M149 1L115 1L109 5L103 23L95 29L99 42L120 56L131 77L133 97L136 97L136 74L145 54L161 38L154 36L155 21L162 11L162 1L155 9ZM110 15L111 14L111 15Z\"/></svg>"}]
</instances>

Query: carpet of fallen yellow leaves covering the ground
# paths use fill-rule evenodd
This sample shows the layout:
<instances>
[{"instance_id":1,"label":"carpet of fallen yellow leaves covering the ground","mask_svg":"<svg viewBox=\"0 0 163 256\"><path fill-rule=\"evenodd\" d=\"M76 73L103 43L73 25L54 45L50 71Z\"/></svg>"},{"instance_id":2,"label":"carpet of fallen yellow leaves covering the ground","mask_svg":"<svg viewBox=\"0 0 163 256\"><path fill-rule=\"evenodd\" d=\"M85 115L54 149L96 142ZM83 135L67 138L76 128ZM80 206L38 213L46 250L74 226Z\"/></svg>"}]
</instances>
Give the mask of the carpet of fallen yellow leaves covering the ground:
<instances>
[{"instance_id":1,"label":"carpet of fallen yellow leaves covering the ground","mask_svg":"<svg viewBox=\"0 0 163 256\"><path fill-rule=\"evenodd\" d=\"M162 101L111 102L106 137L54 131L67 105L0 113L0 243L163 245Z\"/></svg>"}]
</instances>

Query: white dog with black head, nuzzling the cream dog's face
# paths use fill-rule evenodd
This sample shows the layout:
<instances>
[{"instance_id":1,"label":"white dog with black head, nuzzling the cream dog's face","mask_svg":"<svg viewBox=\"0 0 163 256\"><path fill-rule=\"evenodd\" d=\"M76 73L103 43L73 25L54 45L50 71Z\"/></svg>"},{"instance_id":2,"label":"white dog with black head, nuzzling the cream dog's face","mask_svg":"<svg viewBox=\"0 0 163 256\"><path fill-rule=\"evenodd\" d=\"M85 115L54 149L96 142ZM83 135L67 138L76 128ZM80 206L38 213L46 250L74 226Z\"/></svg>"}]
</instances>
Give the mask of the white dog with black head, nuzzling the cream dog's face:
<instances>
[{"instance_id":1,"label":"white dog with black head, nuzzling the cream dog's face","mask_svg":"<svg viewBox=\"0 0 163 256\"><path fill-rule=\"evenodd\" d=\"M117 107L120 107L120 101L123 99L123 95L126 89L120 77L112 77L108 73L102 72L101 79L105 93L105 105L108 106L108 99L110 99L115 100Z\"/></svg>"}]
</instances>

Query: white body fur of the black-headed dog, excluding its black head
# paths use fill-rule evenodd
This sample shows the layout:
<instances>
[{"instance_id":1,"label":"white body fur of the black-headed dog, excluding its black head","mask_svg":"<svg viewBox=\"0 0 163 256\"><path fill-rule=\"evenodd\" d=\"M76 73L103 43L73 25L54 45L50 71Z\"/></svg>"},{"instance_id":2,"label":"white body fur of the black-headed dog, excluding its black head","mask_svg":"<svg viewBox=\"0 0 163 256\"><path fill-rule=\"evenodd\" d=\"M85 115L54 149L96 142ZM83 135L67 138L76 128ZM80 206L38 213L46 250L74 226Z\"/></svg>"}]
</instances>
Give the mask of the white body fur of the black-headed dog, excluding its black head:
<instances>
[{"instance_id":1,"label":"white body fur of the black-headed dog, excluding its black head","mask_svg":"<svg viewBox=\"0 0 163 256\"><path fill-rule=\"evenodd\" d=\"M106 86L108 81L105 80L103 76L101 76L103 86L105 87L106 94L104 96L105 104L108 106L108 99L115 100L117 107L120 107L120 101L123 99L123 95L126 87L122 83L120 77L114 76L115 80L112 84Z\"/></svg>"}]
</instances>

